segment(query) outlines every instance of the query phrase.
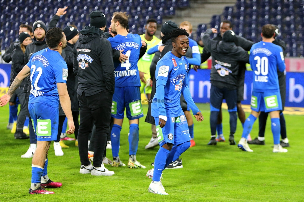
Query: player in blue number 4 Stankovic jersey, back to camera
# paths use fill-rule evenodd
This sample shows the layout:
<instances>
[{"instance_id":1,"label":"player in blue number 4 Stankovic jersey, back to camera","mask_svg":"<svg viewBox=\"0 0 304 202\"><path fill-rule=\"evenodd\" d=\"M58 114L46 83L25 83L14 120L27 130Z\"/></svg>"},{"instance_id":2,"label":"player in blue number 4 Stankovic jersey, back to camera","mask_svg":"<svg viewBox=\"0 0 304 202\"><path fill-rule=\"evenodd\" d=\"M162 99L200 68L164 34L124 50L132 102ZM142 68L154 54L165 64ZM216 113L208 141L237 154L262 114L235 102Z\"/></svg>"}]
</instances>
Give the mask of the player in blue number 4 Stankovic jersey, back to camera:
<instances>
[{"instance_id":1,"label":"player in blue number 4 Stankovic jersey, back to camera","mask_svg":"<svg viewBox=\"0 0 304 202\"><path fill-rule=\"evenodd\" d=\"M113 38L108 38L112 48L123 50L123 54L129 58L123 63L114 63L116 67L115 91L113 94L112 114L114 125L111 131L112 142L112 166L126 166L119 159L120 131L126 108L126 115L129 119L129 168L146 168L136 160L136 152L139 140L139 118L143 117L140 101L140 77L137 67L142 46L141 38L138 34L129 34L126 30L128 16L124 12L115 12L111 20L112 33L117 34Z\"/></svg>"}]
</instances>

